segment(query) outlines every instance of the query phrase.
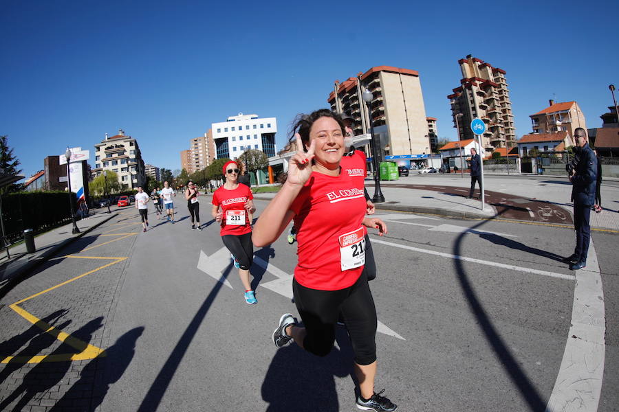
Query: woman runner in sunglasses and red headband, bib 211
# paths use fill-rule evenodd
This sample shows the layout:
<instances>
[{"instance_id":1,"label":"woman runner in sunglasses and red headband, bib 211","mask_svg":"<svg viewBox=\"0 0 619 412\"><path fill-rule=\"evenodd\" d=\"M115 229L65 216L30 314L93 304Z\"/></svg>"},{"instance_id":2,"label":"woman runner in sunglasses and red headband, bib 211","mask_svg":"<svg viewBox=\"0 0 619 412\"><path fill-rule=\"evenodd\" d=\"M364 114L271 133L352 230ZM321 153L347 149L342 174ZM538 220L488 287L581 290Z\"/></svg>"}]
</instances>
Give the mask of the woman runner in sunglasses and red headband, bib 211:
<instances>
[{"instance_id":1,"label":"woman runner in sunglasses and red headband, bib 211","mask_svg":"<svg viewBox=\"0 0 619 412\"><path fill-rule=\"evenodd\" d=\"M245 287L245 301L252 305L258 301L250 284L250 266L254 260L252 222L248 216L256 211L252 191L239 184L239 165L228 161L224 165L226 183L213 194L213 218L219 222L221 240L232 254L235 267ZM221 210L220 210L221 209Z\"/></svg>"}]
</instances>

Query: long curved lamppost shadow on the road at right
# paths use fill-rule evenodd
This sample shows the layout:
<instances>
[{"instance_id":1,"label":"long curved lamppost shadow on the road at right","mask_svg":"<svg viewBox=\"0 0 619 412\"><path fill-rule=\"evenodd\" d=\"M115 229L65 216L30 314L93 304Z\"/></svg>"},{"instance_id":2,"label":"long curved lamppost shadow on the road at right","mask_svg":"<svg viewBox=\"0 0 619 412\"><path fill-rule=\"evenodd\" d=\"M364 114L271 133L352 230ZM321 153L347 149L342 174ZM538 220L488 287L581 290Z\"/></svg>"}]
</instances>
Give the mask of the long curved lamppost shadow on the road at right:
<instances>
[{"instance_id":1,"label":"long curved lamppost shadow on the road at right","mask_svg":"<svg viewBox=\"0 0 619 412\"><path fill-rule=\"evenodd\" d=\"M501 213L497 214L495 218L499 217ZM478 229L479 227L486 225L486 223L489 221L490 220L481 221L470 229ZM454 255L461 255L462 244L464 243L464 239L466 238L466 233L467 232L465 231L457 236L453 246ZM464 270L463 261L455 259L453 262L458 282L460 284L462 292L464 293L464 296L466 297L468 306L471 312L473 312L473 314L475 315L477 321L479 322L479 328L481 328L481 331L484 332L486 341L488 341L490 347L492 347L492 350L497 355L497 358L499 358L503 369L505 369L513 384L520 391L520 395L528 404L530 411L545 411L546 405L539 391L537 391L533 382L531 382L531 380L525 374L525 371L523 371L523 369L520 367L517 359L514 358L514 355L512 354L512 351L510 351L508 345L506 345L503 339L501 339L501 335L495 328L495 325L492 324L492 321L490 321L490 317L484 309L484 305L481 303L481 301L479 301L479 298L475 293L475 288L470 283L469 275Z\"/></svg>"}]
</instances>

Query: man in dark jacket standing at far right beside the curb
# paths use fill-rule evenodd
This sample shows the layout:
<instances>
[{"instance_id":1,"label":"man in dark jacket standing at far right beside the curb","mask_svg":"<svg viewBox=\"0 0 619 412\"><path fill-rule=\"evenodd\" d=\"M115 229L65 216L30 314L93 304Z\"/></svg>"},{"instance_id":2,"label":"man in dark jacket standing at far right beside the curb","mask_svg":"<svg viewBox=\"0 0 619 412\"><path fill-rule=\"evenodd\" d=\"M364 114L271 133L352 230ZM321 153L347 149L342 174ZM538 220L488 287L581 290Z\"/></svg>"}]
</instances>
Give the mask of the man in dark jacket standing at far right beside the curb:
<instances>
[{"instance_id":1,"label":"man in dark jacket standing at far right beside the curb","mask_svg":"<svg viewBox=\"0 0 619 412\"><path fill-rule=\"evenodd\" d=\"M589 215L591 206L596 201L596 181L598 175L598 159L587 143L587 133L583 128L574 130L576 140L576 152L578 165L574 168L574 174L569 176L572 182L572 198L574 198L574 229L576 230L576 248L570 256L569 268L572 271L587 266L587 253L589 252L589 239L591 227Z\"/></svg>"}]
</instances>

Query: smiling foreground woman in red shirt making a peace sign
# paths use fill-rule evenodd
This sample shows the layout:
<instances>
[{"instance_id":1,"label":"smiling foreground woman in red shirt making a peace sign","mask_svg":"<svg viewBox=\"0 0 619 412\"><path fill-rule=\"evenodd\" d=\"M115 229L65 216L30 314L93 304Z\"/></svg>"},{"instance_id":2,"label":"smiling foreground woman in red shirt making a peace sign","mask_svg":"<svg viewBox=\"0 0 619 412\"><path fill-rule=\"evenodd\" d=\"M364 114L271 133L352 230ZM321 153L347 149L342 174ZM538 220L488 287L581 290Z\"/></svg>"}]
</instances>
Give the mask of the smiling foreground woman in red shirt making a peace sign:
<instances>
[{"instance_id":1,"label":"smiling foreground woman in red shirt making a peace sign","mask_svg":"<svg viewBox=\"0 0 619 412\"><path fill-rule=\"evenodd\" d=\"M257 247L274 242L294 218L298 229L298 264L292 290L303 328L292 314L284 314L273 333L282 347L294 340L318 356L331 352L335 325L342 314L355 353L360 397L366 411L395 411L397 406L374 392L376 377L376 308L363 275L365 227L380 234L387 226L366 218L362 182L341 172L344 154L343 122L323 109L302 115L293 130L296 154L288 165L287 181L254 226Z\"/></svg>"}]
</instances>

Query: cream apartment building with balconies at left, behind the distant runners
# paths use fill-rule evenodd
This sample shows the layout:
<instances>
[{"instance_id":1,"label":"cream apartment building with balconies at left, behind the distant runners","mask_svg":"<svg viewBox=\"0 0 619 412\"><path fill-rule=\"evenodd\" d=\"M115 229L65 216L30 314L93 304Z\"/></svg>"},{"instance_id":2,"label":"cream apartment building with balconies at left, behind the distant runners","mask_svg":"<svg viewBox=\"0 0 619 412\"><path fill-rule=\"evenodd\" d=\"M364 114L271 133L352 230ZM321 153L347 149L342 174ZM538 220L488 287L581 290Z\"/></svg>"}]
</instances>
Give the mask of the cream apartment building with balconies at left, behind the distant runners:
<instances>
[{"instance_id":1,"label":"cream apartment building with balconies at left, behind the distant runners","mask_svg":"<svg viewBox=\"0 0 619 412\"><path fill-rule=\"evenodd\" d=\"M103 170L116 172L123 189L144 185L146 174L138 140L125 136L122 129L112 137L105 133L105 139L95 145L95 168L91 174L93 177L99 176Z\"/></svg>"}]
</instances>

